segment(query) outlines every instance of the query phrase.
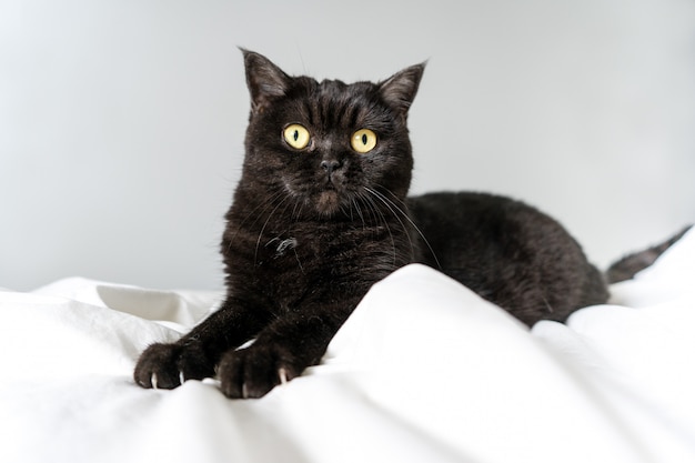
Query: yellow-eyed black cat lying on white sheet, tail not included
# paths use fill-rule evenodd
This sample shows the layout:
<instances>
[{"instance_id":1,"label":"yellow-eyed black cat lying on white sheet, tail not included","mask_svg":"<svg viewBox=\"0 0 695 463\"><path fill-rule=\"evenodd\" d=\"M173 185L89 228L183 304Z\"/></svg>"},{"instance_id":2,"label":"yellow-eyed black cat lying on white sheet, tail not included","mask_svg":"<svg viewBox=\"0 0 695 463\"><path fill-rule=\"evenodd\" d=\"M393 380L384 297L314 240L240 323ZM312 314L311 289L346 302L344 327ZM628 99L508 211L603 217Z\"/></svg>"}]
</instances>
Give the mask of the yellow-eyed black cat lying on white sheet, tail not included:
<instances>
[{"instance_id":1,"label":"yellow-eyed black cat lying on white sheet, tail not included","mask_svg":"<svg viewBox=\"0 0 695 463\"><path fill-rule=\"evenodd\" d=\"M345 84L243 54L251 115L222 239L226 299L179 342L149 346L138 384L216 373L229 397L260 397L318 363L372 284L412 262L530 325L606 301L603 275L535 209L476 193L406 198L406 119L424 66Z\"/></svg>"}]
</instances>

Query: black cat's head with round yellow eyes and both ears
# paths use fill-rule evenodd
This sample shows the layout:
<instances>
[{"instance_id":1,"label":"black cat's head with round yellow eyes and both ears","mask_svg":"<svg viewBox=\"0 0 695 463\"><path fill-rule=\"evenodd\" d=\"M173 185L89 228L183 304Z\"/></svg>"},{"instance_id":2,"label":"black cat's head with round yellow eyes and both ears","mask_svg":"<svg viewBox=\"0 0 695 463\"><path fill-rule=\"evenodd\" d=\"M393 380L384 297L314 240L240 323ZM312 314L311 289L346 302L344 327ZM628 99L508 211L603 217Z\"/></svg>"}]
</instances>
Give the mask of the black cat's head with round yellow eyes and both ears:
<instances>
[{"instance_id":1,"label":"black cat's head with round yellow eyes and both ears","mask_svg":"<svg viewBox=\"0 0 695 463\"><path fill-rule=\"evenodd\" d=\"M242 51L251 93L242 182L321 215L380 194L405 198L413 168L406 119L424 64L345 84L290 77Z\"/></svg>"}]
</instances>

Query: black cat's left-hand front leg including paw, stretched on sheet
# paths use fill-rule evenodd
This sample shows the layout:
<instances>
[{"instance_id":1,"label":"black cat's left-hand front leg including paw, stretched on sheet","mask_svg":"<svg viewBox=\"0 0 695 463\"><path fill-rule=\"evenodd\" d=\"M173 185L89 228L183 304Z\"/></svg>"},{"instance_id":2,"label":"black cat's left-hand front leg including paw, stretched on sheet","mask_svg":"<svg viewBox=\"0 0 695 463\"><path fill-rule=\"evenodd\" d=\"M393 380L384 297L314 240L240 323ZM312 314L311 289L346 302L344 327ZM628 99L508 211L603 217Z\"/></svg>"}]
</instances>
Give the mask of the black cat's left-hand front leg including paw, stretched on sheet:
<instances>
[{"instance_id":1,"label":"black cat's left-hand front leg including paw, stretched on sheet","mask_svg":"<svg viewBox=\"0 0 695 463\"><path fill-rule=\"evenodd\" d=\"M174 389L187 380L212 378L222 354L252 339L263 321L244 305L228 301L175 343L147 348L133 379L145 389Z\"/></svg>"}]
</instances>

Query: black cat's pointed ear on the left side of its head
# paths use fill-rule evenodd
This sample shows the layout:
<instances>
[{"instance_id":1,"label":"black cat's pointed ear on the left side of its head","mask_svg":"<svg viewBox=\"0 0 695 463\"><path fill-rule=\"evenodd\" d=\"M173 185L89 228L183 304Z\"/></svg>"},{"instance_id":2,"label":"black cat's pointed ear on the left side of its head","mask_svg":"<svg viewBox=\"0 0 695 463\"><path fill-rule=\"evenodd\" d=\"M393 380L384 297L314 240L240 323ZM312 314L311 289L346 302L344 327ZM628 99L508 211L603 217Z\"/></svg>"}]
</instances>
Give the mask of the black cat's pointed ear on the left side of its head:
<instances>
[{"instance_id":1,"label":"black cat's pointed ear on the left side of its head","mask_svg":"<svg viewBox=\"0 0 695 463\"><path fill-rule=\"evenodd\" d=\"M263 111L272 99L285 94L292 78L264 56L244 49L241 52L244 56L246 85L251 93L251 111Z\"/></svg>"}]
</instances>

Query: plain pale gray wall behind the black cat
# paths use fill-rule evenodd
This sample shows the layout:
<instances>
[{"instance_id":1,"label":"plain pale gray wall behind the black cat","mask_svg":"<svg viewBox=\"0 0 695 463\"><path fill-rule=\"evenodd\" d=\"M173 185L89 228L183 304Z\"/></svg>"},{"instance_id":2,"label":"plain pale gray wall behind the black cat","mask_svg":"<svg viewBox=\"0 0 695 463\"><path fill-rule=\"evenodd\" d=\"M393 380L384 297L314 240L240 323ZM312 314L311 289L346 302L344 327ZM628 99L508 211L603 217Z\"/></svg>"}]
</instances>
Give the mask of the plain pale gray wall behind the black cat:
<instances>
[{"instance_id":1,"label":"plain pale gray wall behind the black cat","mask_svg":"<svg viewBox=\"0 0 695 463\"><path fill-rule=\"evenodd\" d=\"M345 81L429 60L413 191L524 199L601 265L695 221L692 0L0 0L0 286L222 286L238 46Z\"/></svg>"}]
</instances>

